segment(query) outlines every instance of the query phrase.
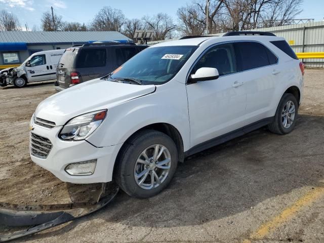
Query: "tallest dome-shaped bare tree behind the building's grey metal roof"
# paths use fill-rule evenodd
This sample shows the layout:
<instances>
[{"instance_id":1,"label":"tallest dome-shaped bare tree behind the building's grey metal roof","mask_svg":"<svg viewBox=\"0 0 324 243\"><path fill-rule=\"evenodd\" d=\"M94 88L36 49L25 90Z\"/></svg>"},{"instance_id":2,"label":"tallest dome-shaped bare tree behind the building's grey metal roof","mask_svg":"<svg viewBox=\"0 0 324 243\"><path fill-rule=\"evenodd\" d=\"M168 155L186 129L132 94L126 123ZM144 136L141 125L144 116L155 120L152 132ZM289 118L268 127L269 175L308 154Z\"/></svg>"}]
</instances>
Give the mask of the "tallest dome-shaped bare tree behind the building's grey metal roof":
<instances>
[{"instance_id":1,"label":"tallest dome-shaped bare tree behind the building's grey metal roof","mask_svg":"<svg viewBox=\"0 0 324 243\"><path fill-rule=\"evenodd\" d=\"M95 31L121 31L125 23L125 15L119 9L103 7L92 21L91 29Z\"/></svg>"}]
</instances>

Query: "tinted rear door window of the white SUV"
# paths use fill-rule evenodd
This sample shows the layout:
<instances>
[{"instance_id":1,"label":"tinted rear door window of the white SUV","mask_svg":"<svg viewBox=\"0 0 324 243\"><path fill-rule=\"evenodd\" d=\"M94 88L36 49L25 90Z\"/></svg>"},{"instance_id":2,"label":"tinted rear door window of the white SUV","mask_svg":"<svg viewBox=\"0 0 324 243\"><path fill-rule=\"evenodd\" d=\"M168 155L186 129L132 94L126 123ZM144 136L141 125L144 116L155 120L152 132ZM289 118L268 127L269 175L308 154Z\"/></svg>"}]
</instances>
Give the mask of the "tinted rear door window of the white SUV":
<instances>
[{"instance_id":1,"label":"tinted rear door window of the white SUV","mask_svg":"<svg viewBox=\"0 0 324 243\"><path fill-rule=\"evenodd\" d=\"M237 66L240 71L263 67L270 64L266 48L256 42L234 43Z\"/></svg>"}]
</instances>

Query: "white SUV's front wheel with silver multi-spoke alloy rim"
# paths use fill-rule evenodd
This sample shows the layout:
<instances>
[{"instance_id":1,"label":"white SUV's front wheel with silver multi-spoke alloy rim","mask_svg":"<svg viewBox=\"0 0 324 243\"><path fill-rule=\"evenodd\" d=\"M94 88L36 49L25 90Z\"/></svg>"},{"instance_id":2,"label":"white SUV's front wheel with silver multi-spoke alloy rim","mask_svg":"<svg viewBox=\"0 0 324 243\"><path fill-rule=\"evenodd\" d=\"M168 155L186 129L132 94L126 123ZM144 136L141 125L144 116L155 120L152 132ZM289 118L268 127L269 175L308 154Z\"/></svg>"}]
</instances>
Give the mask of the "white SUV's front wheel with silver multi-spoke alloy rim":
<instances>
[{"instance_id":1,"label":"white SUV's front wheel with silver multi-spoke alloy rim","mask_svg":"<svg viewBox=\"0 0 324 243\"><path fill-rule=\"evenodd\" d=\"M148 198L171 182L178 151L166 134L144 130L127 142L116 163L114 178L120 188L130 196Z\"/></svg>"}]
</instances>

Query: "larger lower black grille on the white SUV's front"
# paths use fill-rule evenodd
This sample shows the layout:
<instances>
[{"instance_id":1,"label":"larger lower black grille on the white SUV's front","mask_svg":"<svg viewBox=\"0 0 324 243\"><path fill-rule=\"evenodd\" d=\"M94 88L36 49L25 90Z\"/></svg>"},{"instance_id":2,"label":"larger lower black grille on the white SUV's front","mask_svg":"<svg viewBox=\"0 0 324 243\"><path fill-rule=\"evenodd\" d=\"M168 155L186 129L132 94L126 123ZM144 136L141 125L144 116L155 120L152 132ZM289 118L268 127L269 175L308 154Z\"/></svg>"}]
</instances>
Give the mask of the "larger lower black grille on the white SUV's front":
<instances>
[{"instance_id":1,"label":"larger lower black grille on the white SUV's front","mask_svg":"<svg viewBox=\"0 0 324 243\"><path fill-rule=\"evenodd\" d=\"M49 139L30 133L31 155L38 158L47 158L52 149L52 146L53 145Z\"/></svg>"}]
</instances>

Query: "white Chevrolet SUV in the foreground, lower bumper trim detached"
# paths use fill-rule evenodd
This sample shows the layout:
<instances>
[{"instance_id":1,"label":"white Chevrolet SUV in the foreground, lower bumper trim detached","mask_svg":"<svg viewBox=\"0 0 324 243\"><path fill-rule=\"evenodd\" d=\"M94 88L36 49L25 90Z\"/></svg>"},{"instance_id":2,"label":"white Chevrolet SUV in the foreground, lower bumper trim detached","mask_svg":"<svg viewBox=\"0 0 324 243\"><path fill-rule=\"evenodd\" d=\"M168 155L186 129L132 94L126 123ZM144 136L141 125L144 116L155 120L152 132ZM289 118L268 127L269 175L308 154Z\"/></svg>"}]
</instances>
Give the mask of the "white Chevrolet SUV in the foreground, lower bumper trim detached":
<instances>
[{"instance_id":1,"label":"white Chevrolet SUV in the foreground, lower bumper trim detached","mask_svg":"<svg viewBox=\"0 0 324 243\"><path fill-rule=\"evenodd\" d=\"M154 45L44 100L30 121L31 159L62 181L115 180L146 198L193 153L266 125L290 133L303 64L284 38L231 35Z\"/></svg>"}]
</instances>

